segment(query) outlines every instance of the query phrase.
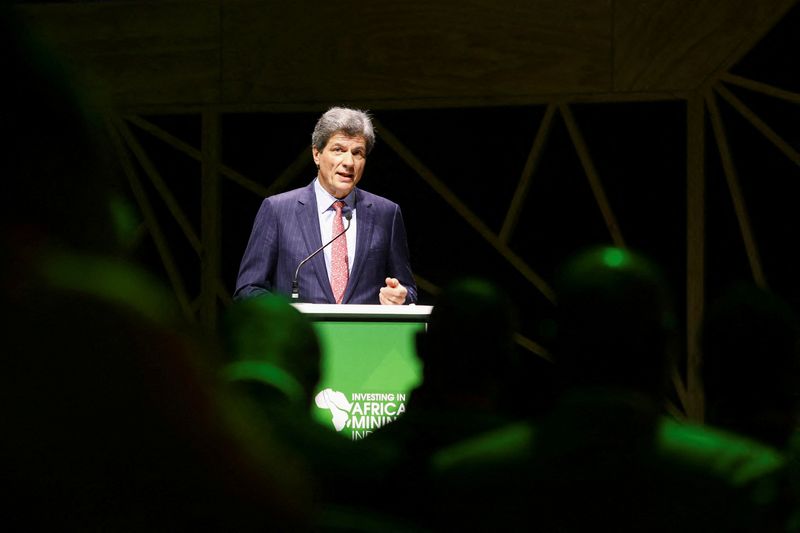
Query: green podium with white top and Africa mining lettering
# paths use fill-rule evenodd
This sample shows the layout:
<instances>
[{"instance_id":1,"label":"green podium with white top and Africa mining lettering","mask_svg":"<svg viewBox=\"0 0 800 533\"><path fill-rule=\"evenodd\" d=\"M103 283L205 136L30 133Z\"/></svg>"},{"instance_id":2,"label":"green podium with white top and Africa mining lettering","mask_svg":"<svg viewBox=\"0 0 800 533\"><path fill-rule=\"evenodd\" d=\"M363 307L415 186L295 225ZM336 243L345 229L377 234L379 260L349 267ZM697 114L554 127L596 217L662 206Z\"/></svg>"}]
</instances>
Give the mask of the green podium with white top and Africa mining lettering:
<instances>
[{"instance_id":1,"label":"green podium with white top and Africa mining lettering","mask_svg":"<svg viewBox=\"0 0 800 533\"><path fill-rule=\"evenodd\" d=\"M293 305L314 323L322 349L315 420L360 440L405 412L422 380L415 336L431 306Z\"/></svg>"}]
</instances>

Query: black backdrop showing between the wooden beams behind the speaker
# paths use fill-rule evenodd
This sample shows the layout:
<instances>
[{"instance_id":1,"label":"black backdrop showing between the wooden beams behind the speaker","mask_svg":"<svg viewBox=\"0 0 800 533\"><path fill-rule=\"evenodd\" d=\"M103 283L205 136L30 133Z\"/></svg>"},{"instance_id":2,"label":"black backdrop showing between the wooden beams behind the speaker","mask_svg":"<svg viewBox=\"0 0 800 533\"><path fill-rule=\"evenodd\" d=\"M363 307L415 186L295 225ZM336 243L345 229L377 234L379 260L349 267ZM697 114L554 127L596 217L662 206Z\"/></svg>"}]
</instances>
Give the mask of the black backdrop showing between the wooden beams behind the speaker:
<instances>
[{"instance_id":1,"label":"black backdrop showing between the wooden beams behind the speaker","mask_svg":"<svg viewBox=\"0 0 800 533\"><path fill-rule=\"evenodd\" d=\"M795 7L731 72L800 91L796 68L800 9ZM800 149L795 103L726 85L796 150ZM726 102L718 106L744 191L769 286L793 304L800 303L796 283L798 167ZM373 112L492 230L500 231L533 143L545 106L496 106ZM674 289L676 309L685 318L686 287L686 102L685 100L574 104L595 168L626 244L661 264ZM225 165L265 186L310 144L318 112L226 113L222 119ZM197 115L146 117L192 145L200 144ZM745 248L719 152L706 125L707 298L739 279L752 280ZM140 141L192 221L199 226L200 165L144 132ZM398 202L405 217L412 266L436 286L454 276L489 277L513 296L522 310L521 332L541 339L542 319L552 305L489 243L408 167L385 143L370 154L360 186ZM300 187L314 172L308 165L287 188ZM234 289L239 260L261 199L229 180L223 182L222 277ZM162 206L162 209L163 206ZM166 210L161 220L169 220ZM171 229L170 229L171 228ZM196 257L178 228L175 254L190 291L199 289ZM183 248L181 244L183 243ZM566 126L556 113L542 159L534 173L510 248L545 281L557 265L581 247L611 244ZM138 253L158 270L154 248ZM420 303L434 294L424 288ZM679 320L683 323L683 320Z\"/></svg>"}]
</instances>

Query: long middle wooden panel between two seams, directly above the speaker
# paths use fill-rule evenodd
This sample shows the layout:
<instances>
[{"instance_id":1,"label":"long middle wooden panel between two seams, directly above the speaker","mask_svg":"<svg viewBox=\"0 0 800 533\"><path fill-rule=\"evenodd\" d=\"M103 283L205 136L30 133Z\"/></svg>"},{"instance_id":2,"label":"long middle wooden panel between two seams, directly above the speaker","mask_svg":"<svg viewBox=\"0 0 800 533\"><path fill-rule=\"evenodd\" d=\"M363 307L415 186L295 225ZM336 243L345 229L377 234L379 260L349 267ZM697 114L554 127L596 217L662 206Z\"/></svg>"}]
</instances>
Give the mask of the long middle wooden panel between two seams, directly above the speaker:
<instances>
[{"instance_id":1,"label":"long middle wooden panel between two seams, directly above the speaker","mask_svg":"<svg viewBox=\"0 0 800 533\"><path fill-rule=\"evenodd\" d=\"M611 1L226 4L225 102L504 99L611 89Z\"/></svg>"}]
</instances>

